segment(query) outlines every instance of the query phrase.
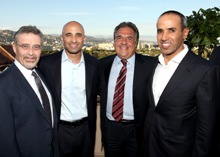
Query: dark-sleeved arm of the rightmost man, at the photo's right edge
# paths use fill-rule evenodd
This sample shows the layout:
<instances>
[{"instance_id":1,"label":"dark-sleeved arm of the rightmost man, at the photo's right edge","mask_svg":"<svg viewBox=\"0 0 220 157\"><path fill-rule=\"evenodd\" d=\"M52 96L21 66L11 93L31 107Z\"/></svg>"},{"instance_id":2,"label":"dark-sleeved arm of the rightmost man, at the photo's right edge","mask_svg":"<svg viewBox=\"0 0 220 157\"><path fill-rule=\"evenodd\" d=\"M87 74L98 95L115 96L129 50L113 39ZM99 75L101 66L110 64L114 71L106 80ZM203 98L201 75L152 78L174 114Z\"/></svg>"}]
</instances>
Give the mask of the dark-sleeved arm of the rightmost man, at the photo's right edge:
<instances>
[{"instance_id":1,"label":"dark-sleeved arm of the rightmost man, at the photo's right edge","mask_svg":"<svg viewBox=\"0 0 220 157\"><path fill-rule=\"evenodd\" d=\"M220 156L220 70L217 67L204 76L196 97L198 119L193 156Z\"/></svg>"}]
</instances>

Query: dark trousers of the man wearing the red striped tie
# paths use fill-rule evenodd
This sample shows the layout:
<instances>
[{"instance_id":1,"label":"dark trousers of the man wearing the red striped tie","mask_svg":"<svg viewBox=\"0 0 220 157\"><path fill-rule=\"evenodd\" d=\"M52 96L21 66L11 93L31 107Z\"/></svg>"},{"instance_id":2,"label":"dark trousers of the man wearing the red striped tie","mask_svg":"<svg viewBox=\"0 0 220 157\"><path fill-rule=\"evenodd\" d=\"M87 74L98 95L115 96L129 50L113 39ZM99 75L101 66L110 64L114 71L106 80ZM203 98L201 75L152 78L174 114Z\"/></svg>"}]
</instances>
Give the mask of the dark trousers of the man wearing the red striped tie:
<instances>
[{"instance_id":1,"label":"dark trousers of the man wearing the red striped tie","mask_svg":"<svg viewBox=\"0 0 220 157\"><path fill-rule=\"evenodd\" d=\"M135 124L106 120L105 157L140 157L135 135Z\"/></svg>"}]
</instances>

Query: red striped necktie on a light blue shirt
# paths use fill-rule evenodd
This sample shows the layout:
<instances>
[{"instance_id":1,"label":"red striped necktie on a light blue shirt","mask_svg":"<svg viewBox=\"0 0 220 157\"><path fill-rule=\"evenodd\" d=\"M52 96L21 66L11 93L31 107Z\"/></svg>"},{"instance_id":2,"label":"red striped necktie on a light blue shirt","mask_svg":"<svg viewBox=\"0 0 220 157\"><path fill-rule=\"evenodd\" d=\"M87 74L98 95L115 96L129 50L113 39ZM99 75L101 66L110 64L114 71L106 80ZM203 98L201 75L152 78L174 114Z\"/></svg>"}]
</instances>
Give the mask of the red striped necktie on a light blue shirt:
<instances>
[{"instance_id":1,"label":"red striped necktie on a light blue shirt","mask_svg":"<svg viewBox=\"0 0 220 157\"><path fill-rule=\"evenodd\" d=\"M112 116L116 122L119 122L123 117L124 87L127 72L127 60L121 60L121 62L123 66L117 78L112 107Z\"/></svg>"}]
</instances>

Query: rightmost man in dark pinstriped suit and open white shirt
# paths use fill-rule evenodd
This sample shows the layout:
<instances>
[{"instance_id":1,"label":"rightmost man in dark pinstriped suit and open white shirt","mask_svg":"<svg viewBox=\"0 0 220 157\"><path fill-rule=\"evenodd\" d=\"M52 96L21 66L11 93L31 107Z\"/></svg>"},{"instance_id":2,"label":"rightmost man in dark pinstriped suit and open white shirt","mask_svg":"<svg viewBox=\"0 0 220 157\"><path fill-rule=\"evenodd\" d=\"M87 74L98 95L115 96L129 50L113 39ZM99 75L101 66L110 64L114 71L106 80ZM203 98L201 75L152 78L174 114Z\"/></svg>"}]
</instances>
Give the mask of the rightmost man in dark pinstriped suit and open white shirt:
<instances>
[{"instance_id":1,"label":"rightmost man in dark pinstriped suit and open white shirt","mask_svg":"<svg viewBox=\"0 0 220 157\"><path fill-rule=\"evenodd\" d=\"M188 32L177 11L157 21L162 53L149 82L146 157L219 156L220 71L184 45Z\"/></svg>"}]
</instances>

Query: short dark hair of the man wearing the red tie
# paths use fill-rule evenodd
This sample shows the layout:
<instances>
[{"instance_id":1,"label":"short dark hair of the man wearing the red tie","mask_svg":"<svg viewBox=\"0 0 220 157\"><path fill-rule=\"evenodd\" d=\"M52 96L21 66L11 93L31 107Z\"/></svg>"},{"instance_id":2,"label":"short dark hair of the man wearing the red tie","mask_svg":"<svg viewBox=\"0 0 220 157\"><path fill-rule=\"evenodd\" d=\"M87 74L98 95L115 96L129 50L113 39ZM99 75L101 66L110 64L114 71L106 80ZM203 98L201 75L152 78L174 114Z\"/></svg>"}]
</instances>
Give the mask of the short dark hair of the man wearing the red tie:
<instances>
[{"instance_id":1,"label":"short dark hair of the man wearing the red tie","mask_svg":"<svg viewBox=\"0 0 220 157\"><path fill-rule=\"evenodd\" d=\"M136 42L138 43L138 40L139 40L139 31L138 31L138 28L136 27L135 24L133 24L132 22L122 22L120 23L118 26L115 27L115 30L114 30L114 39L115 39L115 36L116 36L116 33L118 32L118 30L122 27L129 27L131 29L134 30L135 32L135 35L136 35Z\"/></svg>"}]
</instances>

